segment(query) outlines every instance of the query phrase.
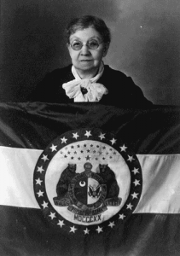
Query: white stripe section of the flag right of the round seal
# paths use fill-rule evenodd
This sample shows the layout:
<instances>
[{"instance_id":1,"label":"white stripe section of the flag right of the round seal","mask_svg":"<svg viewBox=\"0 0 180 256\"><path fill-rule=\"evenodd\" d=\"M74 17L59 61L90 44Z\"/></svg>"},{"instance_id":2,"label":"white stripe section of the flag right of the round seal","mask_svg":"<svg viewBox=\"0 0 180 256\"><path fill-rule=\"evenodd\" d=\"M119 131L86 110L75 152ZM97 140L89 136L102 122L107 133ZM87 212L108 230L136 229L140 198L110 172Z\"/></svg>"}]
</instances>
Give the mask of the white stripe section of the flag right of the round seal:
<instances>
[{"instance_id":1,"label":"white stripe section of the flag right of the round seal","mask_svg":"<svg viewBox=\"0 0 180 256\"><path fill-rule=\"evenodd\" d=\"M180 154L137 154L142 197L135 212L180 212Z\"/></svg>"}]
</instances>

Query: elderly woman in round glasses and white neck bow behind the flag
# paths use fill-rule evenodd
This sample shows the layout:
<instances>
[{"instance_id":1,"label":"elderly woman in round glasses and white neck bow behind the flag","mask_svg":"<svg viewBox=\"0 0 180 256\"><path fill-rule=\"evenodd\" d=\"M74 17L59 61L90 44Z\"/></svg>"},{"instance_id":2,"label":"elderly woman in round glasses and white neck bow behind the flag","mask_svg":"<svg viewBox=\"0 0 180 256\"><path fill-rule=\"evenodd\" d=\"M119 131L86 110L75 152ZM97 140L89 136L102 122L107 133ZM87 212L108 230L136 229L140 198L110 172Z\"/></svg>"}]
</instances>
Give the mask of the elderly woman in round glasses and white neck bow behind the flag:
<instances>
[{"instance_id":1,"label":"elderly woman in round glasses and white neck bow behind the flag","mask_svg":"<svg viewBox=\"0 0 180 256\"><path fill-rule=\"evenodd\" d=\"M72 64L48 73L30 98L37 102L100 102L120 108L150 107L142 90L124 73L104 65L111 41L105 22L85 15L67 26Z\"/></svg>"}]
</instances>

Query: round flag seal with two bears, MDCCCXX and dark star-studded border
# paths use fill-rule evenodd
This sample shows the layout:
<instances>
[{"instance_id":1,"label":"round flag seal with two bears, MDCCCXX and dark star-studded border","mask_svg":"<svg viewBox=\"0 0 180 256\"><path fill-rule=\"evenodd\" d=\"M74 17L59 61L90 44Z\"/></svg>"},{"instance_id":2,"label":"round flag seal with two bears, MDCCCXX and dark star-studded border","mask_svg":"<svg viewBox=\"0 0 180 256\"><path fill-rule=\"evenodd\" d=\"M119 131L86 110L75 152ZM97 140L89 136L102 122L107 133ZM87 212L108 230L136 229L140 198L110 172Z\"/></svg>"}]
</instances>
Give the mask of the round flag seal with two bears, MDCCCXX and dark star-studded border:
<instances>
[{"instance_id":1,"label":"round flag seal with two bears, MDCCCXX and dark star-studded border","mask_svg":"<svg viewBox=\"0 0 180 256\"><path fill-rule=\"evenodd\" d=\"M51 223L88 235L131 216L142 194L142 168L119 137L84 128L62 134L44 149L33 183Z\"/></svg>"}]
</instances>

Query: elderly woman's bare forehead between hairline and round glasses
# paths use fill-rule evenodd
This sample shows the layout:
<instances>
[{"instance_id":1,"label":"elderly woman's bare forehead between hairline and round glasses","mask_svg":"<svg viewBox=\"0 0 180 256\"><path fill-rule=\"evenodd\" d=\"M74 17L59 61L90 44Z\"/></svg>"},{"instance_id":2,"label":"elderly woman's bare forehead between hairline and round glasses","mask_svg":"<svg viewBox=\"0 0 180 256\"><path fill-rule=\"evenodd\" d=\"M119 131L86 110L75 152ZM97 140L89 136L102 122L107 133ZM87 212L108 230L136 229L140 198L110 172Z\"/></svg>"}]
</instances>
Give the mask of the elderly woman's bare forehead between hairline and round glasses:
<instances>
[{"instance_id":1,"label":"elderly woman's bare forehead between hairline and round glasses","mask_svg":"<svg viewBox=\"0 0 180 256\"><path fill-rule=\"evenodd\" d=\"M96 29L92 26L86 27L86 28L79 28L74 32L71 36L70 39L90 39L90 38L97 38L97 39L102 39L102 36L99 32L96 31Z\"/></svg>"}]
</instances>

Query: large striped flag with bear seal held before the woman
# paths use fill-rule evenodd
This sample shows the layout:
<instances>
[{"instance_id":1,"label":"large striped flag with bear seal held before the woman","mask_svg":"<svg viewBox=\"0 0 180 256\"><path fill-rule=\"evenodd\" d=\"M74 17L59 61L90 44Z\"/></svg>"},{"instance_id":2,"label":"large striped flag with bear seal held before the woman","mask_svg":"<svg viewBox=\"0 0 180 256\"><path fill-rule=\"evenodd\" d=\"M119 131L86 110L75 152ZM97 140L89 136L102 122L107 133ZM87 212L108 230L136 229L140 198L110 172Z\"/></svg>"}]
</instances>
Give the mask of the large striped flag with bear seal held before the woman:
<instances>
[{"instance_id":1,"label":"large striped flag with bear seal held before the woman","mask_svg":"<svg viewBox=\"0 0 180 256\"><path fill-rule=\"evenodd\" d=\"M180 255L180 108L0 104L0 255Z\"/></svg>"}]
</instances>

